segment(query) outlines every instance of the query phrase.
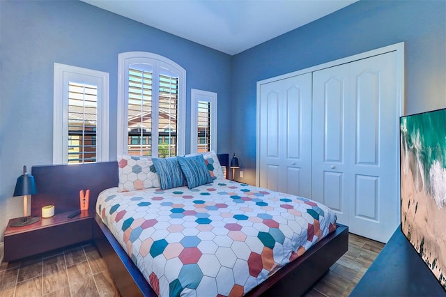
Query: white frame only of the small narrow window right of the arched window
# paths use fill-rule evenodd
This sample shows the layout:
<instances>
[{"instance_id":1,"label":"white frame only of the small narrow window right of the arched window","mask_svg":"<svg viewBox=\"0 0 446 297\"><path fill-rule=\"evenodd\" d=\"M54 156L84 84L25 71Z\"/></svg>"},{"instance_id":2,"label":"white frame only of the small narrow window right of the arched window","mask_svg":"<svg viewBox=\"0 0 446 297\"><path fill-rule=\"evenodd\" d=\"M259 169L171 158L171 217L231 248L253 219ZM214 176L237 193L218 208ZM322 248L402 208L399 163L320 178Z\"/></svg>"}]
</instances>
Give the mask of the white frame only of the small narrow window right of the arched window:
<instances>
[{"instance_id":1,"label":"white frame only of the small narrow window right of the arched window","mask_svg":"<svg viewBox=\"0 0 446 297\"><path fill-rule=\"evenodd\" d=\"M198 102L210 102L210 150L217 151L217 93L190 90L190 153L198 152Z\"/></svg>"}]
</instances>

